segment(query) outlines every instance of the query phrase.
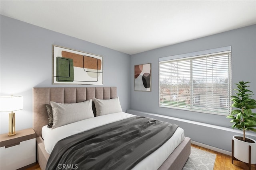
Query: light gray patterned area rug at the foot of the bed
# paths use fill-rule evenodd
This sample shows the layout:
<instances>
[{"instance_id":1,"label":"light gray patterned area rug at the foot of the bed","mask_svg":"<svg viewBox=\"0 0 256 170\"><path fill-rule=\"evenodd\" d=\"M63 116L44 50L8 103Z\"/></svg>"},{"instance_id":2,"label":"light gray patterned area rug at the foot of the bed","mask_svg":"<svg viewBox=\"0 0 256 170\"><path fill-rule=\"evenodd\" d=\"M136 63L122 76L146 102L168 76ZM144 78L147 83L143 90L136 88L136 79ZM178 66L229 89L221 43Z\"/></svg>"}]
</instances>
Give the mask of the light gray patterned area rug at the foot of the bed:
<instances>
[{"instance_id":1,"label":"light gray patterned area rug at the foot of the bed","mask_svg":"<svg viewBox=\"0 0 256 170\"><path fill-rule=\"evenodd\" d=\"M182 170L213 170L216 154L191 147L191 154Z\"/></svg>"}]
</instances>

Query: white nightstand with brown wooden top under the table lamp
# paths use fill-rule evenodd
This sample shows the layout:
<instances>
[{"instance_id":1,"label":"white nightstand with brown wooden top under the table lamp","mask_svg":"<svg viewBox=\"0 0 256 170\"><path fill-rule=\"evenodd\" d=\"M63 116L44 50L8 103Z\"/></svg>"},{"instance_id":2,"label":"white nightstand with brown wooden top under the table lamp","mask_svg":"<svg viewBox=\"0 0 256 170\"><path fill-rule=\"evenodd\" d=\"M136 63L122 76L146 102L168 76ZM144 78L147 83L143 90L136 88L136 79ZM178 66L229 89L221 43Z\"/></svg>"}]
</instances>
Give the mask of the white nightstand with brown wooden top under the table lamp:
<instances>
[{"instance_id":1,"label":"white nightstand with brown wooden top under the table lamp","mask_svg":"<svg viewBox=\"0 0 256 170\"><path fill-rule=\"evenodd\" d=\"M36 163L36 133L30 129L0 135L0 169L25 169Z\"/></svg>"}]
</instances>

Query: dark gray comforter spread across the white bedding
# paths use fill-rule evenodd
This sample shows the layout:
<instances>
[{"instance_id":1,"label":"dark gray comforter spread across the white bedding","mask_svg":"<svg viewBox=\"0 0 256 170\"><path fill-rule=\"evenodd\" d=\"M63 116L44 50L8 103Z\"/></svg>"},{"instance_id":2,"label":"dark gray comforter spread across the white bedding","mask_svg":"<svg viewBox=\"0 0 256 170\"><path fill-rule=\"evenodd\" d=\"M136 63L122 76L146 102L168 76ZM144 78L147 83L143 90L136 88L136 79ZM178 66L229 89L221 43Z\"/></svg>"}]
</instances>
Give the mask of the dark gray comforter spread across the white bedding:
<instances>
[{"instance_id":1,"label":"dark gray comforter spread across the white bedding","mask_svg":"<svg viewBox=\"0 0 256 170\"><path fill-rule=\"evenodd\" d=\"M60 140L46 170L129 170L162 146L178 125L131 117Z\"/></svg>"}]
</instances>

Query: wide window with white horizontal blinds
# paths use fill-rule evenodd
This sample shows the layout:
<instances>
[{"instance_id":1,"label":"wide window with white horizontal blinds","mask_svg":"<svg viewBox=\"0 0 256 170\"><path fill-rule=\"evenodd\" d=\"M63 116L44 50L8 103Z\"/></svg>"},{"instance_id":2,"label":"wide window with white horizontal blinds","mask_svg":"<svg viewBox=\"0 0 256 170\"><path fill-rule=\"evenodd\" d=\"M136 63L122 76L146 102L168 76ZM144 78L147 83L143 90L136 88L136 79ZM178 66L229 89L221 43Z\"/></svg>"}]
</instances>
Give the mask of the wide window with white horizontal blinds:
<instances>
[{"instance_id":1,"label":"wide window with white horizontal blinds","mask_svg":"<svg viewBox=\"0 0 256 170\"><path fill-rule=\"evenodd\" d=\"M228 115L231 47L159 58L159 106Z\"/></svg>"}]
</instances>

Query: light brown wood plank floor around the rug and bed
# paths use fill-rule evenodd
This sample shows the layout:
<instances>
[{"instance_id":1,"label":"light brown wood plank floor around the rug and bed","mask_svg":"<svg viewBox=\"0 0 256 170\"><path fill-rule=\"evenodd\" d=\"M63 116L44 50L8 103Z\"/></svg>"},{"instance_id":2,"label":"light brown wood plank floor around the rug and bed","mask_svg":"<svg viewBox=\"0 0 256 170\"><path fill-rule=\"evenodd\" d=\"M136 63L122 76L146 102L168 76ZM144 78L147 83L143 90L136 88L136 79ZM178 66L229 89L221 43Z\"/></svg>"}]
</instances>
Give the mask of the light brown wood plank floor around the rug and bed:
<instances>
[{"instance_id":1,"label":"light brown wood plank floor around the rug and bed","mask_svg":"<svg viewBox=\"0 0 256 170\"><path fill-rule=\"evenodd\" d=\"M220 152L216 152L214 150L206 149L203 147L199 147L193 144L191 144L191 146L216 154L214 170L248 170L249 169L244 162L234 160L234 164L232 164L232 158L229 155L222 154ZM26 170L41 170L41 168L37 163L36 165L30 168L27 168ZM251 165L251 170L256 170L255 164Z\"/></svg>"}]
</instances>

